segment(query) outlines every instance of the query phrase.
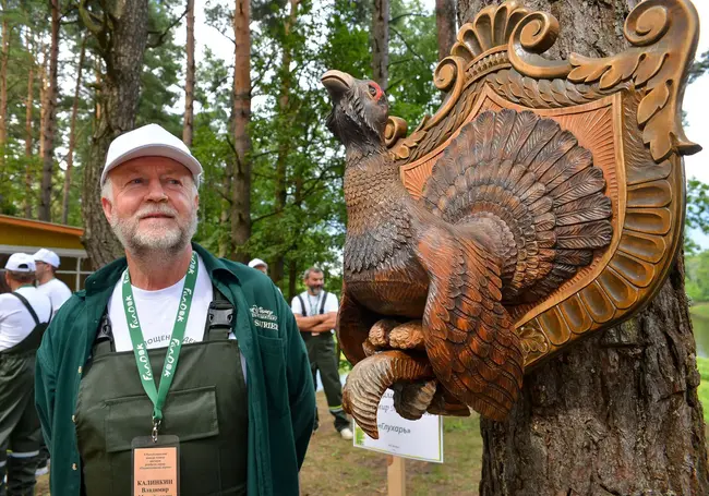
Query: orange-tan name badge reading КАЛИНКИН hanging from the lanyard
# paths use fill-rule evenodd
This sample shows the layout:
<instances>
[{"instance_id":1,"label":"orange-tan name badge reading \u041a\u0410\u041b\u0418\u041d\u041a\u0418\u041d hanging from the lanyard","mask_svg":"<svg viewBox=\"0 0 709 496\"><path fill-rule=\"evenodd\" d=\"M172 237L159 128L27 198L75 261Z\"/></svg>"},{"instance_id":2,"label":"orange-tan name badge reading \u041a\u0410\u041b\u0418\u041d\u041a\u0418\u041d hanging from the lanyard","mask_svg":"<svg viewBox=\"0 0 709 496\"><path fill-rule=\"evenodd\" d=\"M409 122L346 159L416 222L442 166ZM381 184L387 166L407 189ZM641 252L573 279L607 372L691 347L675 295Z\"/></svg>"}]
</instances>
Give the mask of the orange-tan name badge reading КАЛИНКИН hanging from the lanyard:
<instances>
[{"instance_id":1,"label":"orange-tan name badge reading \u041a\u0410\u041b\u0418\u041d\u041a\u0418\u041d hanging from the lanyard","mask_svg":"<svg viewBox=\"0 0 709 496\"><path fill-rule=\"evenodd\" d=\"M135 437L133 448L133 496L180 494L180 439L161 435Z\"/></svg>"}]
</instances>

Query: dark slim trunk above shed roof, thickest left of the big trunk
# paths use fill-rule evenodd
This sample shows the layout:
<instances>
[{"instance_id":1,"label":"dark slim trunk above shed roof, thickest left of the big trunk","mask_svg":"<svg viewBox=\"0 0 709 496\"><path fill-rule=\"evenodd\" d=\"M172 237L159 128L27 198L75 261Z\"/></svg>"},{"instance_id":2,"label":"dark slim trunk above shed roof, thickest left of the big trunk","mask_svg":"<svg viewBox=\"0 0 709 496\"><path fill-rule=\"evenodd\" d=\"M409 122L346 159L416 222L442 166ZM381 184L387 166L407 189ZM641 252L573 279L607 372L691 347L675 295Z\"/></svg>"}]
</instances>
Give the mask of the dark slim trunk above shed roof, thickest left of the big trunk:
<instances>
[{"instance_id":1,"label":"dark slim trunk above shed roof, thickest left of the big trunk","mask_svg":"<svg viewBox=\"0 0 709 496\"><path fill-rule=\"evenodd\" d=\"M51 46L49 49L49 95L45 111L44 155L41 156L41 193L39 196L39 220L51 220L51 176L55 168L55 134L57 132L57 73L59 62L59 0L51 0Z\"/></svg>"}]
</instances>

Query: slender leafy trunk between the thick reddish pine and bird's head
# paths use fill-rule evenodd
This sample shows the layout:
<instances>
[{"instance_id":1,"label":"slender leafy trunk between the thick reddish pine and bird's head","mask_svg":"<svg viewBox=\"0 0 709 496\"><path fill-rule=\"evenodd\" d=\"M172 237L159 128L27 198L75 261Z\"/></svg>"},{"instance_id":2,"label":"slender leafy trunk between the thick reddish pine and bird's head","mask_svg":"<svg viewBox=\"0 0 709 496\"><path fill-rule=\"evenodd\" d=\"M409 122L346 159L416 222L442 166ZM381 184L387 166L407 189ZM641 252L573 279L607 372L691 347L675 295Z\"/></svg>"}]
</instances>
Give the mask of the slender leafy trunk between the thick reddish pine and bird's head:
<instances>
[{"instance_id":1,"label":"slender leafy trunk between the thick reddish pine and bird's head","mask_svg":"<svg viewBox=\"0 0 709 496\"><path fill-rule=\"evenodd\" d=\"M292 74L290 72L290 62L292 60L291 44L288 41L288 36L296 25L298 20L298 5L300 0L289 0L290 12L288 19L284 23L284 43L283 43L283 58L280 63L280 89L278 92L278 116L281 120L283 125L286 124L288 120L288 113L290 111L290 88L292 86ZM288 201L288 154L290 152L290 141L287 135L280 140L278 143L278 155L276 156L276 204L275 208L277 213L283 211L286 208L286 203ZM278 234L277 234L278 235ZM284 246L284 243L279 243L280 246ZM271 278L273 281L278 285L285 275L285 250L280 251L274 257L271 264Z\"/></svg>"}]
</instances>

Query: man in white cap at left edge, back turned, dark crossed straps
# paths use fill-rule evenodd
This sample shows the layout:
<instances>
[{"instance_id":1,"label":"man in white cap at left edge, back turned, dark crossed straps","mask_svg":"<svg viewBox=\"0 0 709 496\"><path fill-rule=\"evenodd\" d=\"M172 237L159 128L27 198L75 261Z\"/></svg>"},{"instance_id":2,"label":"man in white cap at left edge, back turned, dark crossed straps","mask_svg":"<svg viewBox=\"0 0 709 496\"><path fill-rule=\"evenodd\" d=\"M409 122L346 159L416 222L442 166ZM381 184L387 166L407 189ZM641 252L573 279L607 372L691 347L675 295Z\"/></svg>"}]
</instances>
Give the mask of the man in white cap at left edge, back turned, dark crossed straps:
<instances>
[{"instance_id":1,"label":"man in white cap at left edge, back turned, dark crossed straps","mask_svg":"<svg viewBox=\"0 0 709 496\"><path fill-rule=\"evenodd\" d=\"M33 494L36 482L41 434L34 403L35 355L51 303L33 286L31 255L11 255L4 278L12 292L0 294L0 494L24 495Z\"/></svg>"}]
</instances>

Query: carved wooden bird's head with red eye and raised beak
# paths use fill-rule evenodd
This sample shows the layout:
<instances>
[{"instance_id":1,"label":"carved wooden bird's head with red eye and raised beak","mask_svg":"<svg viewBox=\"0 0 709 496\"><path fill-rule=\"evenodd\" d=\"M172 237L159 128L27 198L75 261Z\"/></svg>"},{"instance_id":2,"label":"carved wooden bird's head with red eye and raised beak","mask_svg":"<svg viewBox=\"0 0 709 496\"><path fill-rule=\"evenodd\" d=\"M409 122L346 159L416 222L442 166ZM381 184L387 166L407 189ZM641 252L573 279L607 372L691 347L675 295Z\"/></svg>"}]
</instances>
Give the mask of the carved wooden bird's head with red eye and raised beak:
<instances>
[{"instance_id":1,"label":"carved wooden bird's head with red eye and raised beak","mask_svg":"<svg viewBox=\"0 0 709 496\"><path fill-rule=\"evenodd\" d=\"M321 81L333 98L327 117L333 134L347 148L382 148L389 106L380 85L340 71L327 71Z\"/></svg>"}]
</instances>

